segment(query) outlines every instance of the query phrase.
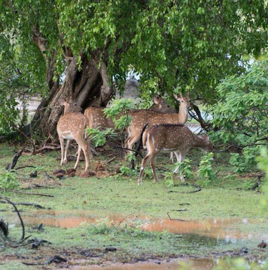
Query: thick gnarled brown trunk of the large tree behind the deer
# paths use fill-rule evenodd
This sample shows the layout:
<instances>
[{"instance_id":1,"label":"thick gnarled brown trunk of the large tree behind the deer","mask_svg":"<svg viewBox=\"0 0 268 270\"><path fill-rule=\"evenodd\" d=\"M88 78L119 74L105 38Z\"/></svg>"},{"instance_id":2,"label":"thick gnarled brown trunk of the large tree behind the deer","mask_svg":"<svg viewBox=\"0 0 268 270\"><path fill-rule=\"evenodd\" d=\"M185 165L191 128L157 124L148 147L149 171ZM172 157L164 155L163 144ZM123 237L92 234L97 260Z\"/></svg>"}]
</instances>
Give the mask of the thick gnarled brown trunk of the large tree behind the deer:
<instances>
[{"instance_id":1,"label":"thick gnarled brown trunk of the large tree behind the deer","mask_svg":"<svg viewBox=\"0 0 268 270\"><path fill-rule=\"evenodd\" d=\"M53 65L48 66L54 68ZM47 70L47 74L51 73L53 72ZM63 108L56 107L59 106L57 102L59 98L66 99L70 96L85 109L88 106L106 106L113 95L112 84L108 83L106 64L102 61L101 68L98 69L94 56L90 60L85 56L82 57L81 70L78 69L76 57L68 57L68 66L62 85L59 85L59 81L54 84L48 81L48 86L49 94L42 97L31 123L32 129L39 130L44 136L55 134L57 123L63 112Z\"/></svg>"}]
</instances>

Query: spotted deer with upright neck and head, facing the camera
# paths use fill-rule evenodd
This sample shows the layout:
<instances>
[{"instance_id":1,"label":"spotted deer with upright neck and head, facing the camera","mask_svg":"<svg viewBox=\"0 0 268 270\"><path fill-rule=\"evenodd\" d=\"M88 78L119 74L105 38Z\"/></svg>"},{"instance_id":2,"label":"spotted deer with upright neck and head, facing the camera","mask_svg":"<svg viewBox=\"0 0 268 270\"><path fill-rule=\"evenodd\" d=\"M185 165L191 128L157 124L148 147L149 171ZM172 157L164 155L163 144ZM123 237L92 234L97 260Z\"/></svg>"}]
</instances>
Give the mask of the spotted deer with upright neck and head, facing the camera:
<instances>
[{"instance_id":1,"label":"spotted deer with upright neck and head, facing the camera","mask_svg":"<svg viewBox=\"0 0 268 270\"><path fill-rule=\"evenodd\" d=\"M190 108L190 94L187 93L187 97L183 97L180 92L180 97L174 94L176 100L181 104L179 113L159 113L159 112L146 112L140 110L134 112L132 120L127 129L128 137L124 142L124 147L132 149L133 144L141 137L142 130L146 124L151 127L156 124L185 124L188 119L188 111Z\"/></svg>"}]
</instances>

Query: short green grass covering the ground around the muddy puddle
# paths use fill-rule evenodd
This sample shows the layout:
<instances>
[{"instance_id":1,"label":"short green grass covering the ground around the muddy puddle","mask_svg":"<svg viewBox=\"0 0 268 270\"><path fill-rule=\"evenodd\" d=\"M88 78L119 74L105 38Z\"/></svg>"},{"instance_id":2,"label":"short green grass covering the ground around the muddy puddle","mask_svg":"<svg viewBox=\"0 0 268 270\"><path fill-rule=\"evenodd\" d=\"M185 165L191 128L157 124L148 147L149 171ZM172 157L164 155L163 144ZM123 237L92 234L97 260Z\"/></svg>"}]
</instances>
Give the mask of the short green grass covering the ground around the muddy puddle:
<instances>
[{"instance_id":1,"label":"short green grass covering the ground around the muddy puddle","mask_svg":"<svg viewBox=\"0 0 268 270\"><path fill-rule=\"evenodd\" d=\"M0 144L0 173L5 172L5 165L9 164L15 151L19 146ZM74 154L74 151L71 151ZM70 153L71 153L70 152ZM92 162L91 170L96 175L93 177L80 177L79 172L84 168L84 162L80 161L78 173L75 177L64 176L57 179L53 176L53 171L60 169L60 151L52 151L45 155L21 156L16 167L33 165L37 168L24 168L17 170L16 179L20 182L23 192L50 194L53 198L41 196L20 195L11 192L1 192L1 196L6 196L14 202L29 202L41 204L46 209L71 210L81 212L82 210L94 212L96 218L105 218L106 213L117 213L120 216L132 214L137 216L137 220L147 218L167 218L167 212L173 209L186 208L187 211L172 212L172 218L184 220L203 220L211 218L249 218L260 219L254 224L247 226L247 233L256 230L267 231L268 211L260 205L263 194L256 191L248 191L247 187L256 181L254 174L245 176L235 175L233 178L224 180L224 177L232 173L232 169L225 165L225 157L222 155L215 163L215 171L219 171L217 176L219 182L210 187L203 188L197 193L182 193L193 190L189 183L182 185L179 181L175 186L166 187L162 171L158 171L160 182L154 184L150 177L145 177L141 186L137 185L137 175L124 177L119 175L122 167L120 158L106 164L111 158L114 150L101 152L101 156ZM118 153L116 153L118 154ZM191 152L189 157L194 161L200 158L200 152ZM167 156L159 157L157 162L162 162L158 166L171 169ZM64 168L72 168L74 161L70 161ZM38 171L38 178L30 178L30 173ZM194 168L194 171L196 168ZM48 179L45 174L53 176ZM197 177L195 175L195 177ZM193 180L193 181L196 181ZM36 184L41 188L36 188ZM22 189L25 188L25 189ZM30 190L27 190L30 189ZM180 204L186 203L187 206ZM18 206L20 210L35 211L35 208L28 206ZM12 209L10 205L0 203L0 210L8 211ZM21 212L22 217L27 217L28 212ZM12 224L11 212L2 212L3 217L9 217ZM243 231L245 227L238 225ZM70 263L76 264L80 259L86 259L87 263L94 264L107 263L107 261L137 261L140 259L178 257L183 256L217 256L232 250L230 255L239 253L242 248L241 243L227 243L218 241L213 237L199 239L196 235L181 236L168 232L146 232L140 229L137 224L124 224L120 226L109 226L109 221L104 220L98 225L87 223L79 227L45 227L44 231L26 229L26 235L45 239L52 242L52 245L44 244L37 250L31 249L30 245L19 248L1 248L1 264L5 269L23 269L21 261L45 261L52 255L61 254L68 258ZM249 230L249 231L248 231ZM19 226L10 228L10 237L18 239L21 233ZM32 238L31 237L31 238ZM192 238L191 238L192 237ZM190 239L191 238L191 239ZM267 252L259 252L256 248L262 239L245 240L243 245L250 249L249 257L264 257ZM203 244L202 244L203 243ZM107 247L116 247L117 251L105 251ZM85 254L89 254L86 256ZM243 254L240 254L243 255ZM244 254L245 255L245 254ZM19 264L19 267L17 265ZM1 267L1 266L0 266ZM35 266L36 267L36 266ZM31 269L26 266L25 269ZM35 269L35 268L33 268Z\"/></svg>"}]
</instances>

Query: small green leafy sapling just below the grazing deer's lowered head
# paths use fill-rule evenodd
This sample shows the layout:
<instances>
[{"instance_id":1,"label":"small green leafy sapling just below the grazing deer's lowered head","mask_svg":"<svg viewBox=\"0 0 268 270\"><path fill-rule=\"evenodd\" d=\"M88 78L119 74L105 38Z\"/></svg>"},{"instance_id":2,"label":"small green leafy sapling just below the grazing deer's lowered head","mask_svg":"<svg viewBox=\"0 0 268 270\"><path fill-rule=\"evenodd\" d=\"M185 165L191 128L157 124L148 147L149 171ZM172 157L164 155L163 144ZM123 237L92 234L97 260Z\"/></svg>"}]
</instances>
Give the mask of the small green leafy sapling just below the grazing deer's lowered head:
<instances>
[{"instance_id":1,"label":"small green leafy sapling just below the grazing deer's lowered head","mask_svg":"<svg viewBox=\"0 0 268 270\"><path fill-rule=\"evenodd\" d=\"M197 174L201 178L201 180L199 180L199 184L202 186L208 186L217 181L217 177L212 169L212 158L212 152L207 153L204 157L201 158Z\"/></svg>"}]
</instances>

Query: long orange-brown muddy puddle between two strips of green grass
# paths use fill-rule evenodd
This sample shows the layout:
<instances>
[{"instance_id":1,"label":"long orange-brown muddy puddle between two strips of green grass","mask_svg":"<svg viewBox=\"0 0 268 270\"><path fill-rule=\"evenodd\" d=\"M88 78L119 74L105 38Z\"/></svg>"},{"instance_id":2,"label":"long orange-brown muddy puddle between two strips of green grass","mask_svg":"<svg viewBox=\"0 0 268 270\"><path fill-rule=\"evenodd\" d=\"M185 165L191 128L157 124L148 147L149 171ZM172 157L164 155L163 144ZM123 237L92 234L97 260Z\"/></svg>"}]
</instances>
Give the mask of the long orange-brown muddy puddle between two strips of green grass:
<instances>
[{"instance_id":1,"label":"long orange-brown muddy puddle between two strips of green grass","mask_svg":"<svg viewBox=\"0 0 268 270\"><path fill-rule=\"evenodd\" d=\"M96 224L100 218L90 211L36 211L33 213L21 213L22 218L27 225L39 225L43 223L46 226L72 228L83 225L84 223ZM196 243L213 242L213 244L224 241L227 244L237 244L244 240L261 239L268 241L268 232L260 233L257 230L249 232L247 227L254 223L261 223L260 220L250 219L206 219L175 221L170 219L149 219L148 217L136 217L134 215L123 216L115 213L103 213L111 225L123 225L125 223L136 224L146 231L168 231L180 234L190 241L195 239ZM13 223L16 218L13 216ZM12 224L11 224L12 225ZM19 225L19 220L16 220ZM243 230L241 229L243 226ZM199 239L197 241L197 239ZM211 240L213 239L213 240Z\"/></svg>"}]
</instances>

